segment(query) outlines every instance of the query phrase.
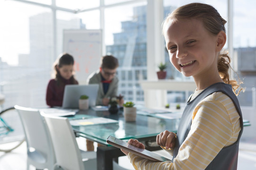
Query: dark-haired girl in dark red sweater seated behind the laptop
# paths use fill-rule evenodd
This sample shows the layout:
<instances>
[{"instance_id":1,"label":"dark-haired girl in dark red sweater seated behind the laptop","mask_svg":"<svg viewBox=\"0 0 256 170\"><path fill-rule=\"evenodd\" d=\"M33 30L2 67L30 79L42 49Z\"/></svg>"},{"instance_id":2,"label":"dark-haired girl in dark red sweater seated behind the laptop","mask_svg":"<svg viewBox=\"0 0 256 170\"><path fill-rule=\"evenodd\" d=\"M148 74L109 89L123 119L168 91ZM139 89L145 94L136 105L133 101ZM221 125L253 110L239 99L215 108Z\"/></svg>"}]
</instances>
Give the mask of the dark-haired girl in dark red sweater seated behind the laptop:
<instances>
[{"instance_id":1,"label":"dark-haired girl in dark red sweater seated behind the laptop","mask_svg":"<svg viewBox=\"0 0 256 170\"><path fill-rule=\"evenodd\" d=\"M65 85L77 85L74 78L74 59L68 53L60 54L54 63L55 78L48 83L46 104L50 107L62 106Z\"/></svg>"}]
</instances>

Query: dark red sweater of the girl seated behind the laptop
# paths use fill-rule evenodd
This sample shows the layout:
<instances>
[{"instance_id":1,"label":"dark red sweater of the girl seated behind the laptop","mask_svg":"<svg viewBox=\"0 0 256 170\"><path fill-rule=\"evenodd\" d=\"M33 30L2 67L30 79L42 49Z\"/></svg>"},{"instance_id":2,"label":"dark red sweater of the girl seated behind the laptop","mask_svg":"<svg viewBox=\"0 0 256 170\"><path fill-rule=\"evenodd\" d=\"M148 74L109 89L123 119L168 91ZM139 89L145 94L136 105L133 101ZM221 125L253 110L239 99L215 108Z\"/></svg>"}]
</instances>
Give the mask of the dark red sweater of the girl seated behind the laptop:
<instances>
[{"instance_id":1,"label":"dark red sweater of the girl seated behind the laptop","mask_svg":"<svg viewBox=\"0 0 256 170\"><path fill-rule=\"evenodd\" d=\"M65 85L71 85L71 81L62 78L62 85L57 85L55 79L51 79L46 90L46 104L48 106L62 106ZM78 82L76 81L76 85Z\"/></svg>"}]
</instances>

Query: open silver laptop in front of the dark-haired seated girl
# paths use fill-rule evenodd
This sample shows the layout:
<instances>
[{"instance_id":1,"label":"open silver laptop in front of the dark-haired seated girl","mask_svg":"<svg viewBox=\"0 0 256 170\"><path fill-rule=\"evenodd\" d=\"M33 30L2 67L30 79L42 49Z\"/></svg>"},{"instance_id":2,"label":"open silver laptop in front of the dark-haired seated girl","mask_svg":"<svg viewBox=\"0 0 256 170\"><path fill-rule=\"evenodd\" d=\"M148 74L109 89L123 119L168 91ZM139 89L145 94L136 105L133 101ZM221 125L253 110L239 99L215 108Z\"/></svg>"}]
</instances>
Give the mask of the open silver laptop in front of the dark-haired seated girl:
<instances>
[{"instance_id":1,"label":"open silver laptop in front of the dark-haired seated girl","mask_svg":"<svg viewBox=\"0 0 256 170\"><path fill-rule=\"evenodd\" d=\"M89 106L93 107L96 104L99 85L65 85L63 96L63 109L78 109L79 98L81 95L89 96Z\"/></svg>"}]
</instances>

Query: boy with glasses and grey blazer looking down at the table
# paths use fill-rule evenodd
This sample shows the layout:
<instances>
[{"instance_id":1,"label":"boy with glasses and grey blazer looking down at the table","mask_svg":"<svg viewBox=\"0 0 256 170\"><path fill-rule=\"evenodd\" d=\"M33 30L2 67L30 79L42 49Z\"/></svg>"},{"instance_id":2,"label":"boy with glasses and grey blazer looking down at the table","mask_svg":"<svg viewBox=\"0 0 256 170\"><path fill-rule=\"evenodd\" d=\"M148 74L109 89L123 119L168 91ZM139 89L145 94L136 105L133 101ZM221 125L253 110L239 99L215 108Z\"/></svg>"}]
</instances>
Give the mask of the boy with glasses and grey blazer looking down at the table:
<instances>
[{"instance_id":1,"label":"boy with glasses and grey blazer looking down at the table","mask_svg":"<svg viewBox=\"0 0 256 170\"><path fill-rule=\"evenodd\" d=\"M99 92L96 105L107 106L110 97L116 97L118 92L118 77L116 76L119 67L118 59L112 55L106 55L101 58L101 67L93 72L87 79L88 84L99 84ZM119 100L122 106L124 100Z\"/></svg>"}]
</instances>

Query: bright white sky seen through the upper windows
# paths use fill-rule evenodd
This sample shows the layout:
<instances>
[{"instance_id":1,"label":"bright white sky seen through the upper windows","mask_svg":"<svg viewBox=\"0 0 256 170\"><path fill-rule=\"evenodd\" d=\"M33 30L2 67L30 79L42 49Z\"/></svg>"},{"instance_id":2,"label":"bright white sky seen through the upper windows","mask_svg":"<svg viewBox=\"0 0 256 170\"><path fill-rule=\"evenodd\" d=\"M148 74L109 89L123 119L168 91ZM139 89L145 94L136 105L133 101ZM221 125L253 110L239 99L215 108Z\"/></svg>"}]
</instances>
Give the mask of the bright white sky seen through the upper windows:
<instances>
[{"instance_id":1,"label":"bright white sky seen through the upper windows","mask_svg":"<svg viewBox=\"0 0 256 170\"><path fill-rule=\"evenodd\" d=\"M34 0L37 2L46 2L50 4L51 0ZM56 0L57 5L62 7L77 8L74 4L79 3L81 0ZM109 3L114 0L108 0ZM120 0L119 0L120 1ZM121 0L124 1L124 0ZM201 0L201 2L211 4L213 0ZM213 5L219 11L220 15L226 20L227 18L227 4L226 0L215 0L217 4ZM63 4L61 4L61 2ZM66 3L64 2L72 2ZM96 0L93 2L96 2ZM192 0L164 0L164 5L181 6L190 3ZM200 1L199 1L200 2ZM142 5L139 3L136 5ZM91 6L97 6L97 3L90 3ZM106 44L113 42L113 33L121 31L120 21L127 21L132 19L132 8L134 5L128 5L125 8L107 8L106 9ZM89 8L81 7L81 8ZM256 46L256 0L234 0L234 27L233 27L233 45L234 47L255 47ZM30 52L29 46L29 16L38 13L51 12L48 8L42 8L34 5L24 4L14 0L0 0L0 57L2 61L8 62L10 65L18 63L18 54L28 54ZM119 15L117 15L119 14ZM93 16L93 17L92 17ZM100 28L100 13L99 11L91 11L86 15L80 13L74 15L67 12L58 12L58 19L69 20L72 17L80 17L87 29ZM109 24L111 23L111 24ZM109 25L108 25L109 24ZM111 26L110 26L111 25Z\"/></svg>"}]
</instances>

